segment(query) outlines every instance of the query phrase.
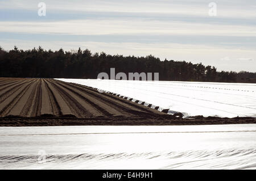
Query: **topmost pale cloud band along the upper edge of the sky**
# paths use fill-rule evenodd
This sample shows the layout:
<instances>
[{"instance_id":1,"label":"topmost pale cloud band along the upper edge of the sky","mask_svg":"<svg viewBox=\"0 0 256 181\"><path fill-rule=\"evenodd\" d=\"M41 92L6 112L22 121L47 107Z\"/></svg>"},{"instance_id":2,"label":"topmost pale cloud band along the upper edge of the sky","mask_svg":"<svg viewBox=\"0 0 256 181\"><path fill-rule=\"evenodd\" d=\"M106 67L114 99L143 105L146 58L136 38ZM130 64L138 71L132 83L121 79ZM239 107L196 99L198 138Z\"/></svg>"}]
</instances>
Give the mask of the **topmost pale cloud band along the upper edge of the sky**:
<instances>
[{"instance_id":1,"label":"topmost pale cloud band along the upper edge of the sky","mask_svg":"<svg viewBox=\"0 0 256 181\"><path fill-rule=\"evenodd\" d=\"M44 0L50 11L96 11L96 12L145 12L170 15L209 16L210 1L49 1ZM0 9L38 10L38 1L1 1ZM242 8L241 8L242 6ZM256 18L255 2L220 1L217 2L217 17ZM170 16L171 19L171 16Z\"/></svg>"}]
</instances>

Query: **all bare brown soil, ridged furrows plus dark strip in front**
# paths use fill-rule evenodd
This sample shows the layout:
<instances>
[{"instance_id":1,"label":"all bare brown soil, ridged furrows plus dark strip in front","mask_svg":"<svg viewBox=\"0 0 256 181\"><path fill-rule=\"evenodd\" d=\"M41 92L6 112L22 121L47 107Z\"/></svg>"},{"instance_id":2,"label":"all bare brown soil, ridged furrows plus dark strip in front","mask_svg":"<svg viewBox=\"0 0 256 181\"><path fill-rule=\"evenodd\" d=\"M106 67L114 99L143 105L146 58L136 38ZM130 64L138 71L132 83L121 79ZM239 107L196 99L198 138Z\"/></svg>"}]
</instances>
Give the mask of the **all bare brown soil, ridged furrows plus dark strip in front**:
<instances>
[{"instance_id":1,"label":"all bare brown soil, ridged furrows plus dark strip in front","mask_svg":"<svg viewBox=\"0 0 256 181\"><path fill-rule=\"evenodd\" d=\"M168 115L156 109L55 79L0 78L0 126L256 123L253 117L183 119L179 113Z\"/></svg>"}]
</instances>

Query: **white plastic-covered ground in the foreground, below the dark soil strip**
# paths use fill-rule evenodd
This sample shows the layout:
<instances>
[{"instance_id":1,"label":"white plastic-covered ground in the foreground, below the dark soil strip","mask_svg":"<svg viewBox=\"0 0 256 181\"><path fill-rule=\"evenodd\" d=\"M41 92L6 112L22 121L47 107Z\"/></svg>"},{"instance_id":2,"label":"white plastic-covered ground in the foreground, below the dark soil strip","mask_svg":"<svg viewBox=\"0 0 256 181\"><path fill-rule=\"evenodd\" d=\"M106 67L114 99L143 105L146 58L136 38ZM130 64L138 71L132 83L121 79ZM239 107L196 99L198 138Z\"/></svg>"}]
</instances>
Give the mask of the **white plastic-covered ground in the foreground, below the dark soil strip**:
<instances>
[{"instance_id":1,"label":"white plastic-covered ground in the foreground, below the dark soil strip","mask_svg":"<svg viewBox=\"0 0 256 181\"><path fill-rule=\"evenodd\" d=\"M0 127L0 169L256 169L255 136L256 124Z\"/></svg>"}]
</instances>

